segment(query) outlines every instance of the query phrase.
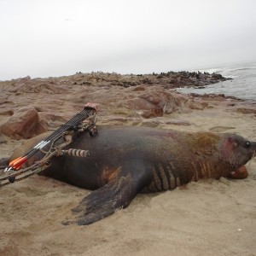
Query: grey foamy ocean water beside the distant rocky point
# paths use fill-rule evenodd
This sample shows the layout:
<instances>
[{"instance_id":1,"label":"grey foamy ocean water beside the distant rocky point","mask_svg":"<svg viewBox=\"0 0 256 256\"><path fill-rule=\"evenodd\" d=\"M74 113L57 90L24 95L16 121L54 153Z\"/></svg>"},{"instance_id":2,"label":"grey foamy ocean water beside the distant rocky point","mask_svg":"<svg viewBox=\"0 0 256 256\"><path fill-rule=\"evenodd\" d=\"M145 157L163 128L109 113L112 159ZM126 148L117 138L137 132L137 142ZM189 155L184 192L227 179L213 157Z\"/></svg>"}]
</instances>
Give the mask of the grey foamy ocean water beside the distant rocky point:
<instances>
[{"instance_id":1,"label":"grey foamy ocean water beside the distant rocky point","mask_svg":"<svg viewBox=\"0 0 256 256\"><path fill-rule=\"evenodd\" d=\"M224 94L225 96L256 100L256 61L192 71L220 73L226 78L231 78L231 80L210 84L204 89L180 88L177 89L178 91L197 94Z\"/></svg>"}]
</instances>

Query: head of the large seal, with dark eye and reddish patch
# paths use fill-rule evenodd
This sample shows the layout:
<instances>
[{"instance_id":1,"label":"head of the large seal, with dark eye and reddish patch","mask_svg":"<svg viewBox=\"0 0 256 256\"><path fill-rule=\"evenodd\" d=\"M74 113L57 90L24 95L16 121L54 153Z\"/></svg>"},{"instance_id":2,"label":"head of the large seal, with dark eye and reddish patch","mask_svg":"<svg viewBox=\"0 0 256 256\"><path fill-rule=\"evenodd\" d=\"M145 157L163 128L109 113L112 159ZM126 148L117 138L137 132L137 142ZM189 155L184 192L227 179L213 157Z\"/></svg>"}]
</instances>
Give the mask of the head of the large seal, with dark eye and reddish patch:
<instances>
[{"instance_id":1,"label":"head of the large seal, with dark eye and reddish patch","mask_svg":"<svg viewBox=\"0 0 256 256\"><path fill-rule=\"evenodd\" d=\"M245 165L256 155L256 142L250 142L238 135L228 135L223 149L224 160L230 167L230 177L247 177Z\"/></svg>"}]
</instances>

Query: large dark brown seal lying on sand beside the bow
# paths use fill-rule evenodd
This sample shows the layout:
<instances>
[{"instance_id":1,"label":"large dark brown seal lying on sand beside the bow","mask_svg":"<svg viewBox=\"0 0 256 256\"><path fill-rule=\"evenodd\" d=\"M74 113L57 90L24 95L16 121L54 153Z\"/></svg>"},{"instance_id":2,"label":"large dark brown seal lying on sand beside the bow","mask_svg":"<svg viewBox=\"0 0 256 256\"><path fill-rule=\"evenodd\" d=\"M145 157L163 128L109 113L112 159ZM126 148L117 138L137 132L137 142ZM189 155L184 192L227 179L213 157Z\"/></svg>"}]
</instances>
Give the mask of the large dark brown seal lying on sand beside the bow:
<instances>
[{"instance_id":1,"label":"large dark brown seal lying on sand beside the bow","mask_svg":"<svg viewBox=\"0 0 256 256\"><path fill-rule=\"evenodd\" d=\"M98 133L93 138L81 134L70 146L90 150L89 158L57 157L44 171L46 176L95 190L64 224L96 222L127 207L139 192L175 189L207 177L247 177L244 165L256 151L256 142L232 134L144 127L100 127Z\"/></svg>"}]
</instances>

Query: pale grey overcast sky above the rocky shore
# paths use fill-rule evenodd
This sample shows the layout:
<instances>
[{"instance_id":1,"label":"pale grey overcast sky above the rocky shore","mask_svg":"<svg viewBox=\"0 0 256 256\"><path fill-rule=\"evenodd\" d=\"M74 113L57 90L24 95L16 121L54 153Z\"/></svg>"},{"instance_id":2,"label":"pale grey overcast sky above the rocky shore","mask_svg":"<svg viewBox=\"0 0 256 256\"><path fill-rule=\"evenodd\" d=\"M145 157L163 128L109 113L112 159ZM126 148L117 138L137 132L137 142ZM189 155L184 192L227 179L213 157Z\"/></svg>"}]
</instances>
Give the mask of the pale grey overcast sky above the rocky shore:
<instances>
[{"instance_id":1,"label":"pale grey overcast sky above the rocky shore","mask_svg":"<svg viewBox=\"0 0 256 256\"><path fill-rule=\"evenodd\" d=\"M255 0L0 0L0 80L256 60Z\"/></svg>"}]
</instances>

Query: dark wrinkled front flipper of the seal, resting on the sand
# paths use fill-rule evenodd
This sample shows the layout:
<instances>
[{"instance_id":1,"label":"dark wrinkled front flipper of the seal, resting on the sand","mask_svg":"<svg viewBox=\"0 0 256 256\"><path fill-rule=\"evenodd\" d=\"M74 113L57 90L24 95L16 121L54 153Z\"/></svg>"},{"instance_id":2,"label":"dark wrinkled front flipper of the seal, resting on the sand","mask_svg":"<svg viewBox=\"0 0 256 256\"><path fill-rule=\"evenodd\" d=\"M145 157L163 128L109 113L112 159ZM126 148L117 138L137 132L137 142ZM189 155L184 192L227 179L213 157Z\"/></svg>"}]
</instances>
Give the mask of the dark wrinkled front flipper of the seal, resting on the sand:
<instances>
[{"instance_id":1,"label":"dark wrinkled front flipper of the seal, resting on the sand","mask_svg":"<svg viewBox=\"0 0 256 256\"><path fill-rule=\"evenodd\" d=\"M71 221L62 224L86 225L105 218L120 208L127 207L133 197L137 195L137 188L131 174L116 177L102 188L86 196L78 207L73 208L76 215Z\"/></svg>"}]
</instances>

